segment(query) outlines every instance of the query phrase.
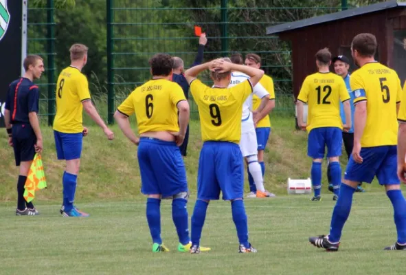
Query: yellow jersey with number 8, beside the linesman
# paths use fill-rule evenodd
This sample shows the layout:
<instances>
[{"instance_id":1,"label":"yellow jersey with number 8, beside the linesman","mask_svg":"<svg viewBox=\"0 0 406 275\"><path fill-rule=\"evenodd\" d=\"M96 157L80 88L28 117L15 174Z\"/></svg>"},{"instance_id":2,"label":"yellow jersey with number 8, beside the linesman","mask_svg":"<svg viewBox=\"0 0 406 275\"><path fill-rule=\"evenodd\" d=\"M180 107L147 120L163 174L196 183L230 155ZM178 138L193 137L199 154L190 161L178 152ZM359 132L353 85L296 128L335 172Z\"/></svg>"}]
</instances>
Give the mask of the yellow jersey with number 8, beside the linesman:
<instances>
[{"instance_id":1,"label":"yellow jersey with number 8, beside the linesman","mask_svg":"<svg viewBox=\"0 0 406 275\"><path fill-rule=\"evenodd\" d=\"M54 130L62 133L82 133L82 102L91 100L86 76L76 67L63 69L56 83L55 98Z\"/></svg>"}]
</instances>

